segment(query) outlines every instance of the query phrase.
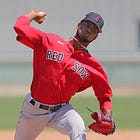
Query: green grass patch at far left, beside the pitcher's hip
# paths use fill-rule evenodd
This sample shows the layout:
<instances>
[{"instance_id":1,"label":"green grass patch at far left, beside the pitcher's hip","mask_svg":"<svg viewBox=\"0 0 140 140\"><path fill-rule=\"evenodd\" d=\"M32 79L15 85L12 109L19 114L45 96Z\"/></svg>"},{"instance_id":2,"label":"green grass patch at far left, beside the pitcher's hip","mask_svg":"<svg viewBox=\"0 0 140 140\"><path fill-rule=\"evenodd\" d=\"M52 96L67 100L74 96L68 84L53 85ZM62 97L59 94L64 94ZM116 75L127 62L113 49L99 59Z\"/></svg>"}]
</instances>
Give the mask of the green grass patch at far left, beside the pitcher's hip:
<instances>
[{"instance_id":1,"label":"green grass patch at far left, beside the pitcher's hip","mask_svg":"<svg viewBox=\"0 0 140 140\"><path fill-rule=\"evenodd\" d=\"M23 102L21 97L0 97L0 129L14 129Z\"/></svg>"}]
</instances>

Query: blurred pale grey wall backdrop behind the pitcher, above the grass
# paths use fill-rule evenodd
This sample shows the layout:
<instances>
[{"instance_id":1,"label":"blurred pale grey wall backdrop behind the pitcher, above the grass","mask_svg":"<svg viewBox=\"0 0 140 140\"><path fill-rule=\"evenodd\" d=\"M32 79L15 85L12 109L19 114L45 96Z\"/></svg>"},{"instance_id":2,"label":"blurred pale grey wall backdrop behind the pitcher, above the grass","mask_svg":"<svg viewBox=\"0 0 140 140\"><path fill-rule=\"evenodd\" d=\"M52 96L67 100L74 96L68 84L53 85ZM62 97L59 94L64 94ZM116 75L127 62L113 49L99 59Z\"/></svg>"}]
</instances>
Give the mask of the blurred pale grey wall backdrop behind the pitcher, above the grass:
<instances>
[{"instance_id":1,"label":"blurred pale grey wall backdrop behind the pitcher, above the grass","mask_svg":"<svg viewBox=\"0 0 140 140\"><path fill-rule=\"evenodd\" d=\"M32 79L32 50L16 41L16 18L32 9L45 11L46 21L32 25L69 40L77 23L90 11L105 21L89 51L104 66L110 84L140 94L139 0L5 0L0 8L0 94L25 93ZM121 92L122 93L122 92ZM124 93L122 93L124 94Z\"/></svg>"}]
</instances>

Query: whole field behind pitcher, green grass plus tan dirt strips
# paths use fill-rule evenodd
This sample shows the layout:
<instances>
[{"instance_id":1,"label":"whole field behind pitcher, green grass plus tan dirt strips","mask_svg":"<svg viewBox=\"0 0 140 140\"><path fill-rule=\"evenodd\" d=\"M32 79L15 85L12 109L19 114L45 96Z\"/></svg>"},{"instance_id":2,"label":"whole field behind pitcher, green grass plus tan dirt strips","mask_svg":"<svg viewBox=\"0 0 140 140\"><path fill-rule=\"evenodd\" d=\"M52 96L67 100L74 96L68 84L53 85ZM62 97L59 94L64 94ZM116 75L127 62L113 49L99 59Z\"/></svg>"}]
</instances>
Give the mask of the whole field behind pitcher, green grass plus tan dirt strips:
<instances>
[{"instance_id":1,"label":"whole field behind pitcher, green grass plus tan dirt strips","mask_svg":"<svg viewBox=\"0 0 140 140\"><path fill-rule=\"evenodd\" d=\"M21 87L20 87L21 88ZM87 128L87 139L92 140L139 140L140 138L140 94L139 88L134 89L114 89L115 95L113 101L113 118L116 122L116 133L111 136L102 136L92 131L88 131L88 124L92 122L90 112L86 109L98 111L98 103L91 94L91 89L73 97L71 103L81 114ZM11 89L12 90L12 89ZM12 92L11 92L12 93ZM0 139L13 140L18 114L22 106L25 95L17 94L0 94ZM68 136L62 135L52 129L45 129L37 140L45 139L65 139Z\"/></svg>"}]
</instances>

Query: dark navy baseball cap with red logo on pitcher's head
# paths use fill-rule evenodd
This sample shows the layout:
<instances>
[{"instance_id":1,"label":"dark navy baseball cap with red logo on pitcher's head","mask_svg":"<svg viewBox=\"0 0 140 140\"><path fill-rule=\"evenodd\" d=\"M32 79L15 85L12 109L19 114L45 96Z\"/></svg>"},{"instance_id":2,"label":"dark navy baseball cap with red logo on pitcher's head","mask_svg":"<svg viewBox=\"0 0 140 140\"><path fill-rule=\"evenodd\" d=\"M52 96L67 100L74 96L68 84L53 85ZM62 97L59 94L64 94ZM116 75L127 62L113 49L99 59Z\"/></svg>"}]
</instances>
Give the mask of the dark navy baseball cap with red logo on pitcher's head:
<instances>
[{"instance_id":1,"label":"dark navy baseball cap with red logo on pitcher's head","mask_svg":"<svg viewBox=\"0 0 140 140\"><path fill-rule=\"evenodd\" d=\"M86 14L85 17L81 21L91 21L92 23L94 23L97 26L97 28L99 29L99 32L100 33L102 32L104 20L99 14L90 12L90 13Z\"/></svg>"}]
</instances>

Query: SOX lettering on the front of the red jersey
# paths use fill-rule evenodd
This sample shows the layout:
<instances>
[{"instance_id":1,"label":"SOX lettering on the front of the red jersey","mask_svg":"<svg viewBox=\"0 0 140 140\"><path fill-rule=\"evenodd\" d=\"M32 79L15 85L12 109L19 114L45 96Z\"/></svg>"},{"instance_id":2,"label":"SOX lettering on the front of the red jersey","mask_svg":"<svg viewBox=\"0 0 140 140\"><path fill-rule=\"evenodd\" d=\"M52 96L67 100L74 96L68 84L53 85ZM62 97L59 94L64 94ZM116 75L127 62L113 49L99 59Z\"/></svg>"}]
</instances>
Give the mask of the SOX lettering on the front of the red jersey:
<instances>
[{"instance_id":1,"label":"SOX lettering on the front of the red jersey","mask_svg":"<svg viewBox=\"0 0 140 140\"><path fill-rule=\"evenodd\" d=\"M72 66L72 70L76 71L76 73L82 78L85 79L89 76L89 72L82 66L79 62L75 62L74 66Z\"/></svg>"}]
</instances>

